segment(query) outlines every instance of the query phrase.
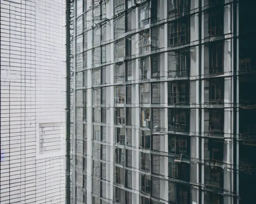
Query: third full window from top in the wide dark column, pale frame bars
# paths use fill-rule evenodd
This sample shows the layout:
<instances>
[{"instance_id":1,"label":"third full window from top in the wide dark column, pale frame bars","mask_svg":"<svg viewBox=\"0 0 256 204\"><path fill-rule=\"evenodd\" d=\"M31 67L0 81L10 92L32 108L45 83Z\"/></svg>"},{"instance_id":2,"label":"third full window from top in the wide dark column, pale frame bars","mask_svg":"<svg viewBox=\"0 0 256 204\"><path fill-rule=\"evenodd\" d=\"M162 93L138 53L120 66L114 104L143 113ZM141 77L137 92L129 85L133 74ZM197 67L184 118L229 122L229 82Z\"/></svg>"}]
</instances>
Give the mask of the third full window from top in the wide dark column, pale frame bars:
<instances>
[{"instance_id":1,"label":"third full window from top in the wide dark column, pale frame bars","mask_svg":"<svg viewBox=\"0 0 256 204\"><path fill-rule=\"evenodd\" d=\"M189 104L188 82L168 82L168 104L171 106Z\"/></svg>"}]
</instances>

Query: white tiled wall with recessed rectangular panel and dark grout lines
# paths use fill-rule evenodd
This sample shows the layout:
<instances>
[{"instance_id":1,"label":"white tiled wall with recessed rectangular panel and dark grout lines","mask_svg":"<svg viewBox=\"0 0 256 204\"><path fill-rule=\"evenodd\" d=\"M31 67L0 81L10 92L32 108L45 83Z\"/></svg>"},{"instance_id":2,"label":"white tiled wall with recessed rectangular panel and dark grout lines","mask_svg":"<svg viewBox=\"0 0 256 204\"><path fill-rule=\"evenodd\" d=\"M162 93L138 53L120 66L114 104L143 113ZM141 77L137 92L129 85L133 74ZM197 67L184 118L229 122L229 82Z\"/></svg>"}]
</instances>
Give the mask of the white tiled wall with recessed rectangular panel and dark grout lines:
<instances>
[{"instance_id":1,"label":"white tiled wall with recessed rectangular panel and dark grout lines","mask_svg":"<svg viewBox=\"0 0 256 204\"><path fill-rule=\"evenodd\" d=\"M0 2L0 203L65 203L66 2Z\"/></svg>"}]
</instances>

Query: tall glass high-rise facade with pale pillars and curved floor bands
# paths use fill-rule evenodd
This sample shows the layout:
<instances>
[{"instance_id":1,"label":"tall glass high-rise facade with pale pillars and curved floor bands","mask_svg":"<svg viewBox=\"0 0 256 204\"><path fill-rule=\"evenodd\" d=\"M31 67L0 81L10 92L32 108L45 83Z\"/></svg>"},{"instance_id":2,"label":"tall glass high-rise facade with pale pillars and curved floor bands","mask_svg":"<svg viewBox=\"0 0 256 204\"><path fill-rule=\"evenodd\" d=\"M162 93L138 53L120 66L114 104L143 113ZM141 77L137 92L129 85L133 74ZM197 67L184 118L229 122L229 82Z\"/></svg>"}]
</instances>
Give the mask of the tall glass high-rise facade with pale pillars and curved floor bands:
<instances>
[{"instance_id":1,"label":"tall glass high-rise facade with pale pillars and curved floor bands","mask_svg":"<svg viewBox=\"0 0 256 204\"><path fill-rule=\"evenodd\" d=\"M248 14L236 0L70 2L72 203L253 203L241 4Z\"/></svg>"}]
</instances>

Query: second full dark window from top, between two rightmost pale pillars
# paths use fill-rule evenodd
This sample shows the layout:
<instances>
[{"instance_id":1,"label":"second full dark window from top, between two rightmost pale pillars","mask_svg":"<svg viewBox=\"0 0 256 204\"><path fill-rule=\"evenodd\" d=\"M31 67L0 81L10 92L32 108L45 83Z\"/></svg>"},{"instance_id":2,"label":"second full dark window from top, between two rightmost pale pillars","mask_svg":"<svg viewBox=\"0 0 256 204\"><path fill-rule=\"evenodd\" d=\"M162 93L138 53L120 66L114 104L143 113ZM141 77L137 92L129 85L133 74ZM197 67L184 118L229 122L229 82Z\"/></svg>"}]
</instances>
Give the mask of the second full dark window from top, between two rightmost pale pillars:
<instances>
[{"instance_id":1,"label":"second full dark window from top, between two rightmost pale pillars","mask_svg":"<svg viewBox=\"0 0 256 204\"><path fill-rule=\"evenodd\" d=\"M223 43L210 45L210 74L223 73Z\"/></svg>"}]
</instances>

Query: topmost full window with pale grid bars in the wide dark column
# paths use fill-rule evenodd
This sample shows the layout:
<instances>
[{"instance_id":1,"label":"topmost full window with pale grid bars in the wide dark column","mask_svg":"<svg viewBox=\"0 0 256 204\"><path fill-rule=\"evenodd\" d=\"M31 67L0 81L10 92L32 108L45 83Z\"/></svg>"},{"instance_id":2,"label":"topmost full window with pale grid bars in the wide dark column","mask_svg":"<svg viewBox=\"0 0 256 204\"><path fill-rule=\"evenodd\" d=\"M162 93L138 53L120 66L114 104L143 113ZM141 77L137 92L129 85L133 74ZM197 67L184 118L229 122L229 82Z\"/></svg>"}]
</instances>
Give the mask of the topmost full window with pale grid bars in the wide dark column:
<instances>
[{"instance_id":1,"label":"topmost full window with pale grid bars in the wide dark column","mask_svg":"<svg viewBox=\"0 0 256 204\"><path fill-rule=\"evenodd\" d=\"M189 43L189 21L188 19L178 20L178 22L168 25L169 46L177 46Z\"/></svg>"}]
</instances>

